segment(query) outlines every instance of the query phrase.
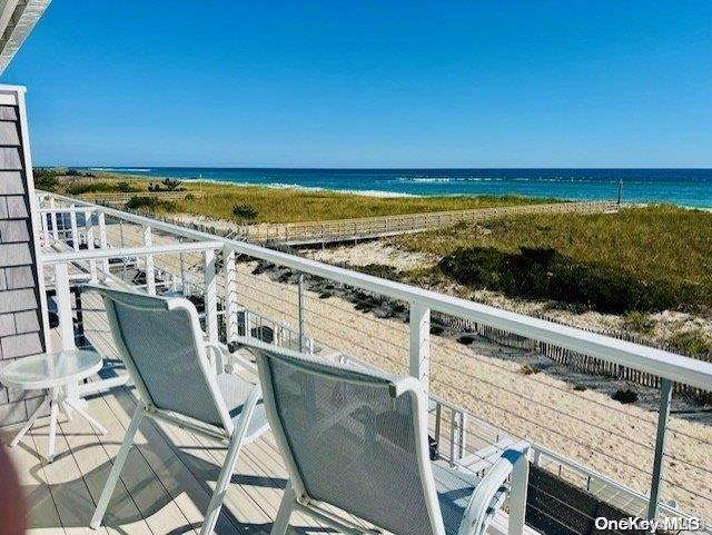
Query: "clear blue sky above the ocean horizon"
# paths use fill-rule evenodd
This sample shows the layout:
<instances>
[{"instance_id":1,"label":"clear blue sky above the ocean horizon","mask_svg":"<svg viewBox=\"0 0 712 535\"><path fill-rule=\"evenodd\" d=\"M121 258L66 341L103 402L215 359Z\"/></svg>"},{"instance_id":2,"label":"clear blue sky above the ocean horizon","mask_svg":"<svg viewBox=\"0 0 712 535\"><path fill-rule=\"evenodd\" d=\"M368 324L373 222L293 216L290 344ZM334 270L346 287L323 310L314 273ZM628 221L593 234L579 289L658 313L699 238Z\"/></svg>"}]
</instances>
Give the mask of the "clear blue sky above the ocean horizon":
<instances>
[{"instance_id":1,"label":"clear blue sky above the ocean horizon","mask_svg":"<svg viewBox=\"0 0 712 535\"><path fill-rule=\"evenodd\" d=\"M712 167L712 2L55 0L40 165Z\"/></svg>"}]
</instances>

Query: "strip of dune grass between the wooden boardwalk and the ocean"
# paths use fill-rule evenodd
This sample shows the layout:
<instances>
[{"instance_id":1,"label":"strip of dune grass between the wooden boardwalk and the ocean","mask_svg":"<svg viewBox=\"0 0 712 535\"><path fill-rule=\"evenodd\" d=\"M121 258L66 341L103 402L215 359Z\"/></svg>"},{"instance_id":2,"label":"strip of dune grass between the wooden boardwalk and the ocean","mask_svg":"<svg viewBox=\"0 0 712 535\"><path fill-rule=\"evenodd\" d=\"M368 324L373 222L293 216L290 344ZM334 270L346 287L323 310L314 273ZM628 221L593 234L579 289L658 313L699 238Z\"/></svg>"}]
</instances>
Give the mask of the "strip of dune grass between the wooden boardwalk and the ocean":
<instances>
[{"instance_id":1,"label":"strip of dune grass between the wooden boardwalk and the ocean","mask_svg":"<svg viewBox=\"0 0 712 535\"><path fill-rule=\"evenodd\" d=\"M61 182L57 190L69 192L70 188L75 188L77 191L87 192L91 190L91 182L97 184L99 191L119 191L119 182L125 185L128 182L131 188L148 190L150 184L159 184L160 179L149 180L97 174L92 180L81 179L79 185L77 182ZM116 187L115 189L112 189L112 185ZM250 222L298 222L555 202L554 199L532 199L514 195L498 197L374 197L335 191L307 191L296 188L199 184L196 181L184 181L180 187L188 192L200 191L201 195L175 202L161 202L154 209L245 222L234 214L234 208L241 206L251 207L257 211Z\"/></svg>"}]
</instances>

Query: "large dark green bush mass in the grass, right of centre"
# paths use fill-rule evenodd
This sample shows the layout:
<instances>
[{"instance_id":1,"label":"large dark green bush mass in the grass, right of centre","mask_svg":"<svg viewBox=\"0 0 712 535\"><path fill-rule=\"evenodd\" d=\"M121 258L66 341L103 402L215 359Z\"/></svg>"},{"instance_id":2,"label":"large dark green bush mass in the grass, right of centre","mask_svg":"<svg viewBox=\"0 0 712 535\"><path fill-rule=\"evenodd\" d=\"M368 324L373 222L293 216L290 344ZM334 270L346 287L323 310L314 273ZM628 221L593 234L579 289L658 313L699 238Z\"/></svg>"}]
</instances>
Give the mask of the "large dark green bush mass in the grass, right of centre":
<instances>
[{"instance_id":1,"label":"large dark green bush mass in the grass, right of centre","mask_svg":"<svg viewBox=\"0 0 712 535\"><path fill-rule=\"evenodd\" d=\"M680 298L665 281L646 284L611 266L580 262L545 248L522 247L518 252L491 247L457 249L441 260L439 268L473 288L601 313L663 310L679 305Z\"/></svg>"}]
</instances>

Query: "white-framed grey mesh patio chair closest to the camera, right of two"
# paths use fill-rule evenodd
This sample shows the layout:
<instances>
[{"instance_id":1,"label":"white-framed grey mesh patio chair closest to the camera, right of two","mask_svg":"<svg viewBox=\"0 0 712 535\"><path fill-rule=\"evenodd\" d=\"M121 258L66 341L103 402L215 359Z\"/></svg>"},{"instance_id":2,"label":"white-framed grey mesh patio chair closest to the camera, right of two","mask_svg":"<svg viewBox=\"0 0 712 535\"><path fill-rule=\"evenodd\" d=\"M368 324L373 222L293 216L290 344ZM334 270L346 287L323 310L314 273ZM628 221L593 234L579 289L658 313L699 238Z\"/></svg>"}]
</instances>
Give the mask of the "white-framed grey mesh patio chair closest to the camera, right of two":
<instances>
[{"instance_id":1,"label":"white-framed grey mesh patio chair closest to the camera, right of two","mask_svg":"<svg viewBox=\"0 0 712 535\"><path fill-rule=\"evenodd\" d=\"M289 474L271 535L286 533L295 511L354 535L483 535L495 516L504 531L498 512L507 497L507 533L523 533L526 443L504 452L479 479L429 459L427 396L415 378L249 338L238 344L257 358L267 419Z\"/></svg>"}]
</instances>

